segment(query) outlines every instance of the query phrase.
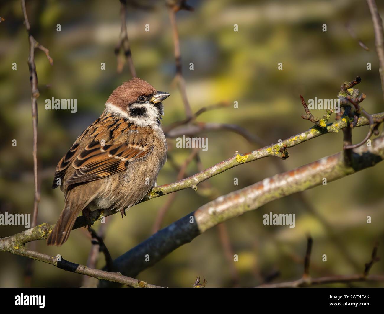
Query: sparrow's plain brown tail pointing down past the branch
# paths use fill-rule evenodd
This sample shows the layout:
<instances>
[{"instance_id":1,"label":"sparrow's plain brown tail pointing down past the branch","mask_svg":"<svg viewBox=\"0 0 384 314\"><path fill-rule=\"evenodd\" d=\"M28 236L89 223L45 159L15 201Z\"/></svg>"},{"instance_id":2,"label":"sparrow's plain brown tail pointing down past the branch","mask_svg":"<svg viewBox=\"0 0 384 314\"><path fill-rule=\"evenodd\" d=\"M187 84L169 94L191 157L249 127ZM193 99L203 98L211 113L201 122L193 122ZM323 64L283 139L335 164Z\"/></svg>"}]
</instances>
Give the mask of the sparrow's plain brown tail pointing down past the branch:
<instances>
[{"instance_id":1,"label":"sparrow's plain brown tail pointing down past the branch","mask_svg":"<svg viewBox=\"0 0 384 314\"><path fill-rule=\"evenodd\" d=\"M85 207L83 207L83 204L81 204L81 208L79 208L79 206L73 207L71 205L72 204L68 204L67 202L65 203L65 207L61 212L56 225L48 235L47 245L61 246L68 240L77 215Z\"/></svg>"}]
</instances>

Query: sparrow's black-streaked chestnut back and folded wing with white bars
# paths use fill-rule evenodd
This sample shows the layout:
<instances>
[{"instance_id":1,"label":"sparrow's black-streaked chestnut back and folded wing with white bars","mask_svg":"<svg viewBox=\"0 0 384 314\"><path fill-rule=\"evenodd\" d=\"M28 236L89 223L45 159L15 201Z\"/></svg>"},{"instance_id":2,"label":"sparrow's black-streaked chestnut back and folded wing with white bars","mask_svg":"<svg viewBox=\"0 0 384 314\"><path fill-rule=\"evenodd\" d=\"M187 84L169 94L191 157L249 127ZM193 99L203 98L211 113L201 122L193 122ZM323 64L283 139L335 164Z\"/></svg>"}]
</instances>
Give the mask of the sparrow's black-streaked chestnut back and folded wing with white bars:
<instances>
[{"instance_id":1,"label":"sparrow's black-streaked chestnut back and folded wing with white bars","mask_svg":"<svg viewBox=\"0 0 384 314\"><path fill-rule=\"evenodd\" d=\"M62 184L65 185L108 177L127 169L130 162L151 152L147 129L139 132L139 129L126 121L112 119L112 122L110 125L94 125L88 131L88 145L79 144L84 134L76 140L56 167L53 188L58 186L59 177L64 179Z\"/></svg>"}]
</instances>

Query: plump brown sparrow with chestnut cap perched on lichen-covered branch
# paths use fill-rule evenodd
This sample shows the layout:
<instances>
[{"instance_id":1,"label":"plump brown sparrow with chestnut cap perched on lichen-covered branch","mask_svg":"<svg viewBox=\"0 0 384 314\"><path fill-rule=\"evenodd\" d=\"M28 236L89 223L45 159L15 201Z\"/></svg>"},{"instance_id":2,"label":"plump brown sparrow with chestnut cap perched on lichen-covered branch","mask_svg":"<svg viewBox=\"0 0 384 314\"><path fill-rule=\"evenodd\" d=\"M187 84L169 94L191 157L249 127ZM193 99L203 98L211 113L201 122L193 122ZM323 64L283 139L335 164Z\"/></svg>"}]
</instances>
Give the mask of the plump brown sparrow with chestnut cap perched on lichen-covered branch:
<instances>
[{"instance_id":1,"label":"plump brown sparrow with chestnut cap perched on lichen-covered branch","mask_svg":"<svg viewBox=\"0 0 384 314\"><path fill-rule=\"evenodd\" d=\"M168 96L139 78L112 92L56 167L52 188L60 186L65 205L47 245L65 243L80 212L109 208L123 216L156 185L167 160L161 119Z\"/></svg>"}]
</instances>

